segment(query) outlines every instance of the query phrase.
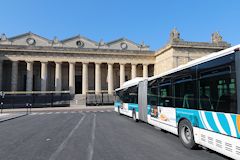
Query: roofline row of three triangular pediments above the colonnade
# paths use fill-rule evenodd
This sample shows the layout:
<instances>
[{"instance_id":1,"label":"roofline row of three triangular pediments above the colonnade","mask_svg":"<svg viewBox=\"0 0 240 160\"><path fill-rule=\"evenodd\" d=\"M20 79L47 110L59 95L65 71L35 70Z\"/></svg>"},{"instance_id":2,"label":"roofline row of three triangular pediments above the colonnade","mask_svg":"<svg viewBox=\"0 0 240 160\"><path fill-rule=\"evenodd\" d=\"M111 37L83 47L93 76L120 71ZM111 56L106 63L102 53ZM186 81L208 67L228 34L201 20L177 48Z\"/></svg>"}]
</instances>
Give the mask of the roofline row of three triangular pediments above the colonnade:
<instances>
[{"instance_id":1,"label":"roofline row of three triangular pediments above the colonnade","mask_svg":"<svg viewBox=\"0 0 240 160\"><path fill-rule=\"evenodd\" d=\"M4 34L5 35L5 34ZM31 38L34 41L33 44L28 43L28 39ZM3 42L4 41L4 42ZM6 43L8 41L8 43ZM57 42L57 43L56 43ZM80 42L80 43L79 43ZM124 47L123 47L124 43ZM81 44L81 45L79 45ZM10 38L6 37L6 40L0 39L0 45L18 45L18 46L31 46L31 47L62 47L62 48L84 48L84 49L113 49L113 50L136 50L136 51L148 51L149 46L137 44L126 38L120 38L110 42L104 43L103 40L96 42L81 35L76 35L63 40L58 40L56 37L53 40L39 36L32 32L27 32Z\"/></svg>"}]
</instances>

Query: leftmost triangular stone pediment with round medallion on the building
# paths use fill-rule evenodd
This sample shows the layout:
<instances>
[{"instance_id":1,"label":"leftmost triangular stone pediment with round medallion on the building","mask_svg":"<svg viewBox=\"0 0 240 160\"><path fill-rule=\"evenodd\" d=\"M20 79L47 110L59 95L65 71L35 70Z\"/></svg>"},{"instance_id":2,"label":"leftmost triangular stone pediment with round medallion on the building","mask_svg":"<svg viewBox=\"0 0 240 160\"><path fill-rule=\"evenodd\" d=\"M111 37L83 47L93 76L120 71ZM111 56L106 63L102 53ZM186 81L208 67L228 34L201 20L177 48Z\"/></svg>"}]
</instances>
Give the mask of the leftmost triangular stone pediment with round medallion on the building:
<instances>
[{"instance_id":1,"label":"leftmost triangular stone pediment with round medallion on the building","mask_svg":"<svg viewBox=\"0 0 240 160\"><path fill-rule=\"evenodd\" d=\"M32 32L11 37L9 38L9 41L11 41L12 45L51 46L51 43L48 39Z\"/></svg>"}]
</instances>

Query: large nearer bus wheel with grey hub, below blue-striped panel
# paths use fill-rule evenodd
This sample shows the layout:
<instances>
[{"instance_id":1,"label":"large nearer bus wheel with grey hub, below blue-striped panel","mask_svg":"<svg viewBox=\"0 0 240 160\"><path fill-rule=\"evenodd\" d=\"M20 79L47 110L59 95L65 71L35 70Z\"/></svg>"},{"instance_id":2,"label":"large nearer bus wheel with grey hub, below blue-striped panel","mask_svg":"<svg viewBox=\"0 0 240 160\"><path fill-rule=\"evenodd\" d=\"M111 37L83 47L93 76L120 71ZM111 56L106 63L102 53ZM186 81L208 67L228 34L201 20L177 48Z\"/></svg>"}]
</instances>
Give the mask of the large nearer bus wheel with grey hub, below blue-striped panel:
<instances>
[{"instance_id":1,"label":"large nearer bus wheel with grey hub, below blue-striped panel","mask_svg":"<svg viewBox=\"0 0 240 160\"><path fill-rule=\"evenodd\" d=\"M182 144L186 148L194 149L197 147L197 144L194 141L192 125L188 120L184 119L180 122L178 133Z\"/></svg>"}]
</instances>

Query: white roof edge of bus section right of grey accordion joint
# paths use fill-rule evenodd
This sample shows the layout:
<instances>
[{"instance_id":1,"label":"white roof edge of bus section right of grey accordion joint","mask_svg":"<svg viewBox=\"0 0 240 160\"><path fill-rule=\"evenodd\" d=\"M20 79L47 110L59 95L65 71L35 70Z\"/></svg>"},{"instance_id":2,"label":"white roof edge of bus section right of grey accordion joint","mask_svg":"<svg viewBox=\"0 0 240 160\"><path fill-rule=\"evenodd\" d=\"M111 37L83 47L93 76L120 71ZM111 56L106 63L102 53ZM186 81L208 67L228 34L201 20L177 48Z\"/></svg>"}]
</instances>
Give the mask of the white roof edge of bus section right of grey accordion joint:
<instances>
[{"instance_id":1,"label":"white roof edge of bus section right of grey accordion joint","mask_svg":"<svg viewBox=\"0 0 240 160\"><path fill-rule=\"evenodd\" d=\"M233 46L233 47L230 47L230 48L227 48L227 49L224 49L224 50L219 51L219 52L213 52L209 55L206 55L206 56L203 56L201 58L190 61L187 64L180 65L180 66L178 66L174 69L171 69L167 72L161 73L161 74L156 75L156 76L149 77L148 80L153 80L153 79L156 79L156 78L159 78L159 77L162 77L162 76L165 76L165 75L168 75L168 74L171 74L171 73L174 73L174 72L177 72L177 71L180 71L180 70L183 70L183 69L186 69L186 68L189 68L189 67L192 67L192 66L195 66L195 65L198 65L198 64L216 59L216 58L219 58L219 57L226 56L228 54L234 53L234 50L238 49L238 48L240 48L240 44L236 45L236 46Z\"/></svg>"}]
</instances>

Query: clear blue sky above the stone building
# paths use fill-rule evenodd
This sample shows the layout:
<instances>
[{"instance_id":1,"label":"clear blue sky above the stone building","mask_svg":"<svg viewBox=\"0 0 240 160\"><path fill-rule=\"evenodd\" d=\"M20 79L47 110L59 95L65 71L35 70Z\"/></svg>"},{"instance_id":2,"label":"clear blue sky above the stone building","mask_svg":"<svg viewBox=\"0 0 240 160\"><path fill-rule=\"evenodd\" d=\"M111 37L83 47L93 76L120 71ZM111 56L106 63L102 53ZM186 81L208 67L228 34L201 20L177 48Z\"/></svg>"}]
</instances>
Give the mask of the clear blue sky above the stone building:
<instances>
[{"instance_id":1,"label":"clear blue sky above the stone building","mask_svg":"<svg viewBox=\"0 0 240 160\"><path fill-rule=\"evenodd\" d=\"M218 31L232 45L240 43L237 0L5 0L0 33L28 31L53 39L77 34L105 42L126 37L162 47L176 27L188 41L211 40Z\"/></svg>"}]
</instances>

